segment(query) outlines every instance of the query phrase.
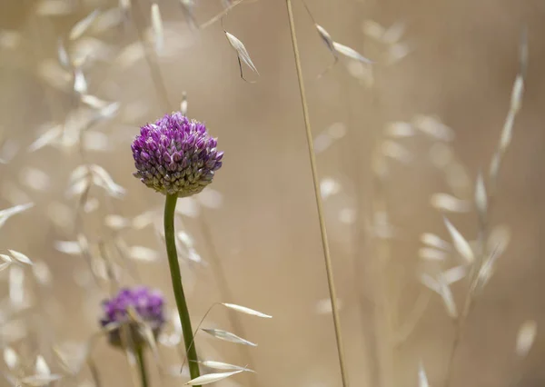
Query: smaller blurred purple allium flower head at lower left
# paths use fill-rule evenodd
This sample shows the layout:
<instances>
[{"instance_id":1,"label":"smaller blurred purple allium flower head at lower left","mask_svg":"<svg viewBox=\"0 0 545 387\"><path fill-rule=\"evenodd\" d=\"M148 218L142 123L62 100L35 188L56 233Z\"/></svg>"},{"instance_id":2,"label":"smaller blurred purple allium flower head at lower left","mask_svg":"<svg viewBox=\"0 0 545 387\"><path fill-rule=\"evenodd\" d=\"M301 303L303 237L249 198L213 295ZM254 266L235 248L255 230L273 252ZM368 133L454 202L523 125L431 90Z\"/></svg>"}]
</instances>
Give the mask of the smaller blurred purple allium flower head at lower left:
<instances>
[{"instance_id":1,"label":"smaller blurred purple allium flower head at lower left","mask_svg":"<svg viewBox=\"0 0 545 387\"><path fill-rule=\"evenodd\" d=\"M135 319L129 317L128 311L132 309L137 314L138 320L145 323L155 337L161 332L165 322L163 295L156 291L139 286L133 289L124 288L114 298L103 302L104 315L100 320L103 327L112 323L127 323L132 341L135 345L144 345L145 339L142 326L138 326ZM120 325L121 326L121 325ZM116 346L121 346L121 328L114 328L109 333L109 340Z\"/></svg>"}]
</instances>

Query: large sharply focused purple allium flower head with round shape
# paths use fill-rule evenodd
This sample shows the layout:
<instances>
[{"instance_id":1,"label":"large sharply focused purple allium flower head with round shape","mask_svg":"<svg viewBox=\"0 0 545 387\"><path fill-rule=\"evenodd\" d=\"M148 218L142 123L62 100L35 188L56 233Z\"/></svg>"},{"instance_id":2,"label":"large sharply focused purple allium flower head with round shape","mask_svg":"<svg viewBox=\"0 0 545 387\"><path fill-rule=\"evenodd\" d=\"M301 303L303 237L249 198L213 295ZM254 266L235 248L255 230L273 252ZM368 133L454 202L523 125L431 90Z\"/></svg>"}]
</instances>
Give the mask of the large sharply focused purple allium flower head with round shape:
<instances>
[{"instance_id":1,"label":"large sharply focused purple allium flower head with round shape","mask_svg":"<svg viewBox=\"0 0 545 387\"><path fill-rule=\"evenodd\" d=\"M179 197L200 193L222 166L223 152L204 124L180 112L140 128L131 146L135 177L155 191Z\"/></svg>"}]
</instances>

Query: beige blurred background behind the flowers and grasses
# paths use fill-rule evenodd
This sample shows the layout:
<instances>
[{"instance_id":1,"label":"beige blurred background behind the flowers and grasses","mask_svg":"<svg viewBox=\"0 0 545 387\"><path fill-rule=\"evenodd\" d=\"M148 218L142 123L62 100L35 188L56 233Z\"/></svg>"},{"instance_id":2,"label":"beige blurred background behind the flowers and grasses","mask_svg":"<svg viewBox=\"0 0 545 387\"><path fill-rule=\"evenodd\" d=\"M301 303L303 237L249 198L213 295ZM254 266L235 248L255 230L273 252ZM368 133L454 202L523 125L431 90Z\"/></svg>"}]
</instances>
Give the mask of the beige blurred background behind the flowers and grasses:
<instances>
[{"instance_id":1,"label":"beige blurred background behind the flowers and grasses","mask_svg":"<svg viewBox=\"0 0 545 387\"><path fill-rule=\"evenodd\" d=\"M196 3L198 24L222 11L219 1ZM430 160L438 141L422 134L394 139L411 160L388 158L389 173L381 181L373 178L373 150L380 153L389 123L411 122L418 114L437 115L454 134L443 146L456 154L464 165L462 178L469 179L470 186L462 184L461 195L466 196L461 198L471 199L476 176L480 169L487 170L500 139L519 71L520 31L523 25L528 27L530 59L523 106L490 215L490 223L510 227L510 245L469 316L451 385L510 386L519 378L519 385L541 385L545 373L540 367L544 317L540 279L545 268L540 262L544 193L540 178L545 138L540 110L545 84L540 69L545 65L541 37L545 5L501 0L307 4L314 20L334 40L377 62L371 69L342 59L318 78L331 65L332 55L302 2L294 2L312 131L322 142L319 173L321 179L338 184L333 184L335 192L324 199L324 207L350 380L358 387L415 386L419 362L432 386L443 385L455 335L439 295L418 281L425 266L418 258L421 233L449 238L441 213L430 205L432 193L453 193L443 171ZM104 216L133 220L154 210L160 224L163 197L132 176L129 144L140 124L178 109L186 92L189 115L203 120L225 151L213 192L183 203L183 209L197 206L199 215L180 214L177 223L193 237L203 259L194 263L183 257L193 321L196 324L217 302L239 303L273 315L272 320L259 320L215 309L205 325L232 330L259 346L241 348L201 333L200 352L215 360L249 364L257 372L218 385L340 386L332 317L327 307L323 311L327 282L284 2L248 0L223 19L223 26L215 23L195 31L188 27L178 2L161 1L163 55L157 58L153 45L147 47L148 59L159 66L168 106L158 94L163 86L151 75L137 43L134 21L141 31L149 30L149 5L134 0L126 24L94 25L69 46L74 57L85 50L90 54L83 66L88 94L121 104L114 119L90 129L99 134L89 136L94 149L85 150L84 158L103 166L126 193L112 199L104 190L92 189L98 208L84 213L86 238L111 251L122 271L121 284L142 281L158 287L173 305L168 266L153 225L114 233L104 225ZM88 110L74 100L70 75L66 77L58 65L58 37L66 40L73 25L93 9L116 6L116 1L106 0L5 0L0 5L2 157L16 151L8 164L0 165L0 208L36 204L4 225L2 253L6 249L25 253L44 262L52 276L50 283L40 285L33 271L25 269L25 296L31 305L14 312L9 274L0 273L6 311L0 313L0 343L15 348L28 362L44 354L55 372L60 368L51 348L84 342L96 332L99 303L110 286L106 281L94 284L82 256L55 249L55 241L75 241L81 232L74 224L77 200L65 195L71 172L83 163L78 145L69 149L48 145L34 153L27 148L44 133L45 123L70 117L75 124L69 123L77 126L74 112ZM137 12L142 17L135 18ZM369 35L373 26L369 21L384 28L402 23L405 32L397 44L381 42ZM244 72L257 83L240 78L236 53L223 28L248 49L261 76L247 68ZM407 49L406 56L394 60L396 53ZM329 144L327 149L323 144ZM386 205L394 229L389 239L372 236L372 211L377 210L373 203ZM448 216L468 239L476 237L474 211ZM127 245L154 249L156 259L142 262L129 257L125 262L112 247L116 235ZM98 255L104 258L108 253ZM467 287L466 280L452 285L460 307ZM412 329L415 308L421 313ZM528 320L538 323L538 335L528 357L518 359L517 332ZM401 339L396 340L398 336ZM166 367L180 365L172 348L161 351ZM93 358L104 386L131 385L123 353L100 342ZM154 385L187 381L185 376L160 380L152 364L150 357ZM79 377L57 385L84 385L89 378L84 369Z\"/></svg>"}]
</instances>

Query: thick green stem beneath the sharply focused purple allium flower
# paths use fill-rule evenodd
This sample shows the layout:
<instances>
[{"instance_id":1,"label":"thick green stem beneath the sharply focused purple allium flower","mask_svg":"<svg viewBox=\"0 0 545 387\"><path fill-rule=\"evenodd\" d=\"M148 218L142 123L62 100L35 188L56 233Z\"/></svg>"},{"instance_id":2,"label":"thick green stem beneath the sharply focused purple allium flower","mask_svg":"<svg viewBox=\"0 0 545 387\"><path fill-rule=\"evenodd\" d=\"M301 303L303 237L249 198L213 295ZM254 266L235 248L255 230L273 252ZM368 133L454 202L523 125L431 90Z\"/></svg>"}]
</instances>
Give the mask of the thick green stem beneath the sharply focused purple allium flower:
<instances>
[{"instance_id":1,"label":"thick green stem beneath the sharply focused purple allium flower","mask_svg":"<svg viewBox=\"0 0 545 387\"><path fill-rule=\"evenodd\" d=\"M199 377L199 363L197 350L193 342L193 330L191 319L183 294L182 276L180 275L180 264L178 263L178 253L176 253L176 242L174 237L174 210L178 196L167 194L164 202L164 240L166 242L166 253L168 255L168 264L170 266L171 278L173 281L174 298L178 306L180 322L182 323L183 343L185 344L185 353L189 363L189 374L191 379ZM197 386L199 387L199 386Z\"/></svg>"}]
</instances>

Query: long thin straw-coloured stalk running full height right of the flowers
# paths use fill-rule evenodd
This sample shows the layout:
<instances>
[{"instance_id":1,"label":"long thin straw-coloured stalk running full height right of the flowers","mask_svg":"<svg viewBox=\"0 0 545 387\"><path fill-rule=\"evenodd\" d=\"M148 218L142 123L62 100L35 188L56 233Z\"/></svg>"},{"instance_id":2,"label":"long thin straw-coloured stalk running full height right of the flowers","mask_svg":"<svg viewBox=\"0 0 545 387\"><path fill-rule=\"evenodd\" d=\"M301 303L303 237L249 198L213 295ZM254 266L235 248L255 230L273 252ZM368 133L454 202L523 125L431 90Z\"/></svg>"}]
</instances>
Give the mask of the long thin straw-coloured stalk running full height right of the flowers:
<instances>
[{"instance_id":1,"label":"long thin straw-coloured stalk running full height right of the flowers","mask_svg":"<svg viewBox=\"0 0 545 387\"><path fill-rule=\"evenodd\" d=\"M314 196L316 198L316 207L318 209L318 222L320 223L320 233L322 234L323 258L325 261L325 273L327 274L327 283L329 286L330 299L332 302L333 326L335 329L335 339L337 341L337 354L339 357L339 365L341 368L342 386L348 387L348 372L346 372L346 365L344 361L344 350L342 349L341 319L339 318L339 308L337 306L337 295L335 292L335 283L333 281L332 258L330 254L329 243L327 240L325 218L323 216L322 196L320 193L318 169L316 167L316 155L314 153L314 145L312 140L311 119L309 115L308 104L306 101L306 94L304 92L304 83L302 81L301 57L299 55L299 48L297 47L297 36L295 35L295 22L293 21L292 0L286 0L286 6L288 8L290 32L292 34L292 48L293 48L293 56L295 57L295 67L297 69L297 79L299 81L299 93L301 94L302 117L304 119L307 145L308 145L309 157L311 161L312 182L314 184Z\"/></svg>"}]
</instances>

